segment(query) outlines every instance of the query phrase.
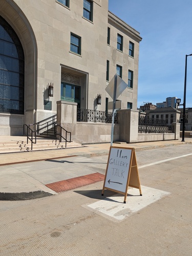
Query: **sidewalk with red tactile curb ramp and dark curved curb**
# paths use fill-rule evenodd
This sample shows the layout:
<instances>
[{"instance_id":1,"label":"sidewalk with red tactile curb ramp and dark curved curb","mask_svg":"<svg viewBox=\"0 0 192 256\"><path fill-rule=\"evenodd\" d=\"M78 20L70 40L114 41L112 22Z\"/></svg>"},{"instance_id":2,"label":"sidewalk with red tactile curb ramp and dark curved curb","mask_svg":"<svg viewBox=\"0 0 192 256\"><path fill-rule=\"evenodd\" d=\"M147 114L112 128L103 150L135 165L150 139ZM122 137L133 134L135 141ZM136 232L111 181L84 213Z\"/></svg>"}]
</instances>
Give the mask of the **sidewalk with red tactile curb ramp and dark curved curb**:
<instances>
[{"instance_id":1,"label":"sidewalk with red tactile curb ramp and dark curved curb","mask_svg":"<svg viewBox=\"0 0 192 256\"><path fill-rule=\"evenodd\" d=\"M3 140L1 136L0 140ZM131 144L114 143L113 146L134 147L137 152L189 143L192 143L192 138L185 138L185 142L181 142L180 139ZM0 200L46 197L101 181L104 179L109 150L110 143L102 143L59 150L1 154ZM79 167L78 163L89 161L90 157L95 156L105 157L99 164L94 163L92 158L90 168Z\"/></svg>"}]
</instances>

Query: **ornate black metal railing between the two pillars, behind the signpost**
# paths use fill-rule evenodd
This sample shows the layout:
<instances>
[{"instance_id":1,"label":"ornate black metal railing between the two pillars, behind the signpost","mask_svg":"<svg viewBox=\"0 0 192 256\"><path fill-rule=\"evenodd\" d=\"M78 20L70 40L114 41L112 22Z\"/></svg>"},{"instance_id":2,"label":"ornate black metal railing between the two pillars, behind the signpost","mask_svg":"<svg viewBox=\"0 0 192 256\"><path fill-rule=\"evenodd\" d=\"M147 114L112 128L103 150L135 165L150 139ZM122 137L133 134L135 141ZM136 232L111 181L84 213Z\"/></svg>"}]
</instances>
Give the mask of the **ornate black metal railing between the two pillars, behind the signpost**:
<instances>
[{"instance_id":1,"label":"ornate black metal railing between the two pillars, behind the signpost","mask_svg":"<svg viewBox=\"0 0 192 256\"><path fill-rule=\"evenodd\" d=\"M78 122L112 123L112 112L77 109ZM114 123L118 123L118 113L115 113Z\"/></svg>"}]
</instances>

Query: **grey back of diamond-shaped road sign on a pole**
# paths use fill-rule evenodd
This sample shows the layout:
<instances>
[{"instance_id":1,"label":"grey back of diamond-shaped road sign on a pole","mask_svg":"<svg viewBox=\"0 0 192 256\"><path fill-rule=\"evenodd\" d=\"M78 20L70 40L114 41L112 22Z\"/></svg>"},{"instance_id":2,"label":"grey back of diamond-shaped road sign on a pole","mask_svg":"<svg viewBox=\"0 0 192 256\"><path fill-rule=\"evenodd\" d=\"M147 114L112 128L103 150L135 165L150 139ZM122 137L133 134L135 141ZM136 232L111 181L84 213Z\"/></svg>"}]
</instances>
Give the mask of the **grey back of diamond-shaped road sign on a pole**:
<instances>
[{"instance_id":1,"label":"grey back of diamond-shaped road sign on a pole","mask_svg":"<svg viewBox=\"0 0 192 256\"><path fill-rule=\"evenodd\" d=\"M108 86L105 88L105 91L112 97L112 99L114 95L114 83L115 83L115 76L112 78ZM127 88L127 84L123 81L123 79L121 79L119 75L117 75L116 98L113 100L116 100L126 88Z\"/></svg>"}]
</instances>

